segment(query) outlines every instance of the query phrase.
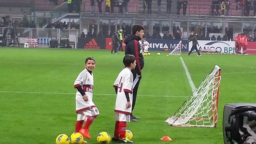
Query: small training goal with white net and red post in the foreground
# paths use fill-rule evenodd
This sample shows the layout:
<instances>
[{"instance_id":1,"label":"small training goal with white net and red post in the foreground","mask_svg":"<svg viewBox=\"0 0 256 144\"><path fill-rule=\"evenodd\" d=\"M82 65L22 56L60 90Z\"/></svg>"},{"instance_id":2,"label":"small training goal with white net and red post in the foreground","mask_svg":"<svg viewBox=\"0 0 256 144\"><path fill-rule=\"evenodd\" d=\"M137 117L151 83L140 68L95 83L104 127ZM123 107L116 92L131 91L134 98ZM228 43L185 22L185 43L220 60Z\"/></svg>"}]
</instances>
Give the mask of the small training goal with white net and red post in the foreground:
<instances>
[{"instance_id":1,"label":"small training goal with white net and red post in the foreground","mask_svg":"<svg viewBox=\"0 0 256 144\"><path fill-rule=\"evenodd\" d=\"M220 67L216 65L166 122L170 126L216 127L220 80Z\"/></svg>"}]
</instances>

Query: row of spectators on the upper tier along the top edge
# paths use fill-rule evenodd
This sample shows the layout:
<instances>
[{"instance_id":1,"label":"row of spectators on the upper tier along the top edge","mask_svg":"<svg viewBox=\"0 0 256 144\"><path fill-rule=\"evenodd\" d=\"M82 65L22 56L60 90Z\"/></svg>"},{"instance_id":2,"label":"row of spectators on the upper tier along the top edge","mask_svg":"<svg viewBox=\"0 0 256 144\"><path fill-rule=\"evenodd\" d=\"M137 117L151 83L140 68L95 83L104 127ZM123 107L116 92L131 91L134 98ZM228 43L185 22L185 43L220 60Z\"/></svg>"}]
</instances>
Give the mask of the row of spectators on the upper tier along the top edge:
<instances>
[{"instance_id":1,"label":"row of spectators on the upper tier along the top edge","mask_svg":"<svg viewBox=\"0 0 256 144\"><path fill-rule=\"evenodd\" d=\"M74 0L73 0L74 1ZM76 0L80 1L80 0ZM129 6L132 5L130 4L130 0L89 0L90 1L90 7L91 10L89 10L91 13L95 13L95 7L97 7L97 12L98 13L129 13L129 9L131 9ZM195 1L189 2L187 0L177 0L177 4L175 5L176 8L172 8L173 1L172 0L157 0L157 3L153 3L152 0L139 0L142 1L143 5L143 14L153 14L152 13L152 5L157 5L158 11L157 14L161 15L163 7L162 5L166 6L166 10L164 13L171 14L171 9L176 9L177 13L176 15L186 15L188 14L188 9L193 9L193 7L190 6L195 6L196 3ZM234 8L236 7L236 11L241 12L241 16L246 16L248 17L250 14L250 11L253 11L252 16L255 16L256 14L256 0L235 0L235 3L230 2L231 0L212 0L211 4L208 4L209 8L211 11L208 13L208 15L212 16L229 16L231 15L231 6ZM103 5L103 3L105 3ZM200 5L200 7L208 7ZM199 6L198 6L199 7ZM118 10L116 11L117 8ZM206 8L204 8L206 9ZM87 10L88 11L88 10ZM199 13L200 14L200 13Z\"/></svg>"}]
</instances>

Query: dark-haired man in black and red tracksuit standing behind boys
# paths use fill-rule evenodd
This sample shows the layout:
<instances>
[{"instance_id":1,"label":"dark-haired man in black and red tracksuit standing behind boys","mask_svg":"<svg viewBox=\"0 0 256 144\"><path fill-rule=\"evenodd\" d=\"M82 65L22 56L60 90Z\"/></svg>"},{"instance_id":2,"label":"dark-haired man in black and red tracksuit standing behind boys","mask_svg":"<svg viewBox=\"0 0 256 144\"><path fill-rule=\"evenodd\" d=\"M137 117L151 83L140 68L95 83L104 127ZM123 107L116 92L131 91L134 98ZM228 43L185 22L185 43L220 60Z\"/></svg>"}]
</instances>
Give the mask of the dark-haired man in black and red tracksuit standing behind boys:
<instances>
[{"instance_id":1,"label":"dark-haired man in black and red tracksuit standing behind boys","mask_svg":"<svg viewBox=\"0 0 256 144\"><path fill-rule=\"evenodd\" d=\"M144 28L140 25L134 25L132 28L133 34L127 37L124 41L125 45L125 55L131 54L136 57L137 65L134 70L132 70L134 76L134 84L133 84L133 103L132 103L132 112L135 107L137 91L142 79L142 69L144 67L144 57L142 53L140 53L140 43L139 41L143 38ZM140 119L131 113L131 121L137 121Z\"/></svg>"}]
</instances>

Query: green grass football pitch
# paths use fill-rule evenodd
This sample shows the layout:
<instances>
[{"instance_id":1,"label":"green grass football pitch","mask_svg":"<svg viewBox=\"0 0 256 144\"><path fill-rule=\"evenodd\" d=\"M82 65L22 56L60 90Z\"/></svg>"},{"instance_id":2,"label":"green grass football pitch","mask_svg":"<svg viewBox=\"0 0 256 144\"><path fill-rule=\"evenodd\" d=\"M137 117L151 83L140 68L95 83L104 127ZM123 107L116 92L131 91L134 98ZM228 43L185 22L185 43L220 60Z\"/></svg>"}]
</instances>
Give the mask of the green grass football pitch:
<instances>
[{"instance_id":1,"label":"green grass football pitch","mask_svg":"<svg viewBox=\"0 0 256 144\"><path fill-rule=\"evenodd\" d=\"M141 117L127 123L135 143L223 143L222 113L227 103L255 103L256 56L182 54L197 87L215 65L221 67L218 122L215 128L172 127L165 120L191 94L180 56L152 52L145 68L134 110ZM124 67L119 55L105 50L0 48L0 143L55 143L70 135L76 122L74 80L88 56L96 59L94 102L100 115L90 127L91 140L107 131L113 135L115 92L112 87ZM161 141L168 135L171 142ZM112 142L114 143L114 142Z\"/></svg>"}]
</instances>

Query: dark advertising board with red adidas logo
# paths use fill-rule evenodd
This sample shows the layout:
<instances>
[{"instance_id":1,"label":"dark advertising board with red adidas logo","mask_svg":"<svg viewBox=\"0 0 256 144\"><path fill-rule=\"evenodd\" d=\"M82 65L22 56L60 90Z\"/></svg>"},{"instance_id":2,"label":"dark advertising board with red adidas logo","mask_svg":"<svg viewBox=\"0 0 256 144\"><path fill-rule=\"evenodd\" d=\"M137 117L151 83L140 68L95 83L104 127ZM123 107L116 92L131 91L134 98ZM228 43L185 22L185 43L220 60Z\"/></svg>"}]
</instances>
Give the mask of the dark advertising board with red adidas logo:
<instances>
[{"instance_id":1,"label":"dark advertising board with red adidas logo","mask_svg":"<svg viewBox=\"0 0 256 144\"><path fill-rule=\"evenodd\" d=\"M106 49L106 38L78 38L78 49Z\"/></svg>"}]
</instances>

